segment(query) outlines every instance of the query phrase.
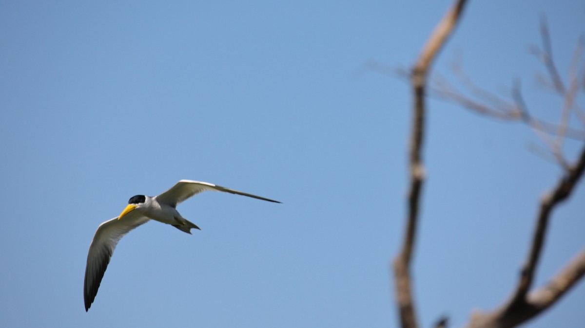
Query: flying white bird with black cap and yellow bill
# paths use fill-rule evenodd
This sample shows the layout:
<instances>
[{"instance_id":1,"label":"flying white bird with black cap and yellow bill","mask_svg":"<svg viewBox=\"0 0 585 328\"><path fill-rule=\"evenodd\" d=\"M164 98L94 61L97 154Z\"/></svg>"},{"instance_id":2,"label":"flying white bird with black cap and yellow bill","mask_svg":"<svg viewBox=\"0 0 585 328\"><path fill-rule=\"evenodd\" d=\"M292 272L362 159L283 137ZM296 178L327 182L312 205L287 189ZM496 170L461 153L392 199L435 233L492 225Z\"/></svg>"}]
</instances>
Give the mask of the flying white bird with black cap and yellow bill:
<instances>
[{"instance_id":1,"label":"flying white bird with black cap and yellow bill","mask_svg":"<svg viewBox=\"0 0 585 328\"><path fill-rule=\"evenodd\" d=\"M119 240L126 233L139 225L145 224L150 219L170 224L180 231L191 234L192 228L199 229L199 227L182 217L177 212L176 207L187 198L205 190L223 191L225 193L280 203L280 201L242 193L241 191L217 186L212 183L192 180L181 180L159 196L149 197L137 195L130 198L128 206L126 206L118 217L99 225L98 230L95 232L94 240L91 242L90 252L87 254L87 266L85 267L83 287L86 312L90 309L91 303L94 302L95 295L98 294L99 284L104 277L113 250L116 248Z\"/></svg>"}]
</instances>

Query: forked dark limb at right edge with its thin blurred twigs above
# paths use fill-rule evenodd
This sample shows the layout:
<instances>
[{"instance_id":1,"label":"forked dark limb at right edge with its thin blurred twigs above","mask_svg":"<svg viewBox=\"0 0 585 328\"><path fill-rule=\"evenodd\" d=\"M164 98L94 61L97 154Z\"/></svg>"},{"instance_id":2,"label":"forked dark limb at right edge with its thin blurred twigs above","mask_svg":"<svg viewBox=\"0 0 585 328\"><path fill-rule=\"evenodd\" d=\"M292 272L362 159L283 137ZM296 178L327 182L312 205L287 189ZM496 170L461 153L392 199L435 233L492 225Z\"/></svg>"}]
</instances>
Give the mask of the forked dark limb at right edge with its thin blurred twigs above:
<instances>
[{"instance_id":1,"label":"forked dark limb at right edge with its thin blurred twigs above","mask_svg":"<svg viewBox=\"0 0 585 328\"><path fill-rule=\"evenodd\" d=\"M584 129L570 127L570 118L573 116L585 127L585 115L579 104L575 102L577 92L582 87L581 84L585 83L585 74L579 68L584 53L585 39L581 37L577 42L569 68L568 81L564 82L553 61L550 35L545 20L541 20L541 36L542 50L532 47L531 53L541 60L549 74L548 78L539 76L538 81L557 93L562 100L558 124L539 120L531 114L522 96L518 81L514 83L512 88L512 100L504 100L502 97L475 85L463 69L456 64L453 65L453 72L470 96L453 87L442 77L433 80L432 90L443 100L455 102L469 110L497 120L519 121L527 124L547 146L553 158L563 169L563 175L556 186L546 193L539 203L531 246L522 266L518 284L512 291L510 299L491 312L474 313L466 326L467 328L516 327L550 308L585 275L584 249L552 277L548 284L531 290L552 213L559 204L571 196L574 187L580 182L585 172L585 144L574 160L567 160L563 153L565 138L585 141ZM580 76L580 72L584 76Z\"/></svg>"}]
</instances>

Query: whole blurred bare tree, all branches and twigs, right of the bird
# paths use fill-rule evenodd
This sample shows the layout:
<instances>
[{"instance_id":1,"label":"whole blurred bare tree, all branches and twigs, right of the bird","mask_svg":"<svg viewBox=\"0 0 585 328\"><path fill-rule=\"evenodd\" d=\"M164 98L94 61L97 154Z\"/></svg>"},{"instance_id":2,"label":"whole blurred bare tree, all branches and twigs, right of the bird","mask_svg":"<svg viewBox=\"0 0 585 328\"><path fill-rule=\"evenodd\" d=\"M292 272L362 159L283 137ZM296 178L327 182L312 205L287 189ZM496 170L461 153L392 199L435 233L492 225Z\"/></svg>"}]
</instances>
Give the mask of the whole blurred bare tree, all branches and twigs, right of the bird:
<instances>
[{"instance_id":1,"label":"whole blurred bare tree, all branches and twigs, right of the bird","mask_svg":"<svg viewBox=\"0 0 585 328\"><path fill-rule=\"evenodd\" d=\"M424 142L426 82L432 62L456 26L465 4L465 0L457 0L453 8L439 22L409 74L414 95L414 107L409 145L410 183L408 191L408 213L404 241L400 253L394 259L396 297L402 328L418 327L411 291L410 267L412 253L414 252L419 208L421 206L422 186L425 179L425 169L422 161L422 144ZM453 65L453 72L457 76L457 79L459 79L459 82L467 89L467 92L479 100L464 95L463 92L460 92L460 90L441 76L439 78L435 76L432 80L431 90L435 92L434 94L436 96L444 100L461 104L468 109L476 111L476 113L484 114L498 120L518 121L529 125L535 134L548 146L554 159L560 163L564 172L556 186L550 193L542 197L541 203L539 204L535 231L532 235L528 256L522 267L517 287L512 292L510 299L504 302L500 308L492 312L474 313L467 326L469 328L508 328L518 326L548 309L585 275L584 249L565 268L556 274L548 284L538 289L532 289L531 291L536 268L538 267L545 244L546 231L552 212L560 203L570 197L574 187L579 183L579 180L585 172L585 147L581 151L579 158L572 164L567 162L563 155L563 142L565 138L585 139L585 130L574 129L569 124L570 116L573 112L581 120L583 125L585 125L585 113L581 111L575 100L580 87L585 86L585 75L582 78L579 76L579 62L585 49L585 39L581 37L574 52L569 71L569 89L567 89L560 78L552 58L549 30L544 18L541 20L541 36L543 50L531 48L531 52L543 62L550 75L550 80L539 76L541 83L549 86L563 97L563 107L559 124L539 120L529 113L528 106L526 106L525 100L522 97L519 82L514 83L511 92L512 100L508 101L475 85L459 65ZM399 75L402 77L408 75L404 73L404 70L390 69L378 62L369 62L367 67L388 75ZM581 80L583 81L581 82ZM537 149L537 151L540 152L540 149ZM446 325L447 319L446 317L442 317L435 323L434 327L444 328Z\"/></svg>"}]
</instances>

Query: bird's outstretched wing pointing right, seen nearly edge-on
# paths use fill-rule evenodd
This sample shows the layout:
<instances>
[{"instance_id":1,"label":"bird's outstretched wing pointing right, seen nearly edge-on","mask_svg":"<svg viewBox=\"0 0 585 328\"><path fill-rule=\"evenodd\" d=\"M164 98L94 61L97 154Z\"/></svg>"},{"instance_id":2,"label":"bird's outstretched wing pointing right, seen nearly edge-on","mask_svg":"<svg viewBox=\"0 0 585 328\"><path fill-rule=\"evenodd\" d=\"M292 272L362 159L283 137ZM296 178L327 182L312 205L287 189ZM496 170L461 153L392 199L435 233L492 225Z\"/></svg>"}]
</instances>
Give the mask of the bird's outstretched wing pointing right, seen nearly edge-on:
<instances>
[{"instance_id":1,"label":"bird's outstretched wing pointing right, seen nearly edge-on","mask_svg":"<svg viewBox=\"0 0 585 328\"><path fill-rule=\"evenodd\" d=\"M187 198L201 193L202 191L210 190L210 191L223 191L224 193L230 194L238 194L242 196L257 198L260 200L271 201L273 203L280 203L280 201L271 200L268 198L242 193L242 191L229 189L226 187L218 186L216 184L208 183L208 182L201 182L201 181L193 181L193 180L181 180L177 182L171 189L165 191L164 193L156 196L156 200L159 203L164 203L167 205L171 205L176 207L182 201L186 200Z\"/></svg>"}]
</instances>

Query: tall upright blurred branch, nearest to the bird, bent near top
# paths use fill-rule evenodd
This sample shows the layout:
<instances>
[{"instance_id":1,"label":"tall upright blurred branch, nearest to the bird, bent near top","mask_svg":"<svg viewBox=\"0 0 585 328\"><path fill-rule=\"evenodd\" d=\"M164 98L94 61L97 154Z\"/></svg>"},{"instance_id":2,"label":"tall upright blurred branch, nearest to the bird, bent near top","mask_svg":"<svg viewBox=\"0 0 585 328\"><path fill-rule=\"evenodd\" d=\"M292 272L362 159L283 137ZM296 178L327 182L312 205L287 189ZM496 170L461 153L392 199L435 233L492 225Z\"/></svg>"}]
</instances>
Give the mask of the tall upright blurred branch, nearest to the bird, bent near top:
<instances>
[{"instance_id":1,"label":"tall upright blurred branch, nearest to the bird, bent near top","mask_svg":"<svg viewBox=\"0 0 585 328\"><path fill-rule=\"evenodd\" d=\"M410 264L417 230L420 194L425 175L421 152L424 139L426 77L433 59L456 26L465 4L465 0L457 0L456 4L435 27L411 73L414 93L414 116L409 151L408 222L404 235L404 244L394 260L396 296L402 328L418 327L414 301L412 300Z\"/></svg>"}]
</instances>

